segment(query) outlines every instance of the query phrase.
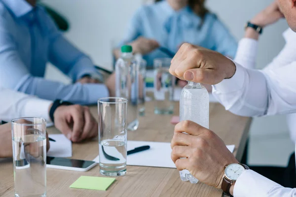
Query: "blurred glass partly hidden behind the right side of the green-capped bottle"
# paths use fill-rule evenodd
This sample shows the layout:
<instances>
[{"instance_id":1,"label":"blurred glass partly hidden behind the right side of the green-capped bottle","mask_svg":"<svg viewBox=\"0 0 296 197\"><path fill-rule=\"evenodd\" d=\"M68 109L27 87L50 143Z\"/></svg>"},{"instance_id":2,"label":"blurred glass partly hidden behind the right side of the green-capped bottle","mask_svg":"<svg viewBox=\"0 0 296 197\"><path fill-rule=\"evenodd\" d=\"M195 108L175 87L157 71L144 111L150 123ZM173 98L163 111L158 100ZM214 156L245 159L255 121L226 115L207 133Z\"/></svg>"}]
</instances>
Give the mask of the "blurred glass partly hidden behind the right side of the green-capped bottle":
<instances>
[{"instance_id":1,"label":"blurred glass partly hidden behind the right side of the green-capped bottle","mask_svg":"<svg viewBox=\"0 0 296 197\"><path fill-rule=\"evenodd\" d=\"M140 116L145 116L145 99L146 99L146 60L141 60L139 63L139 113Z\"/></svg>"}]
</instances>

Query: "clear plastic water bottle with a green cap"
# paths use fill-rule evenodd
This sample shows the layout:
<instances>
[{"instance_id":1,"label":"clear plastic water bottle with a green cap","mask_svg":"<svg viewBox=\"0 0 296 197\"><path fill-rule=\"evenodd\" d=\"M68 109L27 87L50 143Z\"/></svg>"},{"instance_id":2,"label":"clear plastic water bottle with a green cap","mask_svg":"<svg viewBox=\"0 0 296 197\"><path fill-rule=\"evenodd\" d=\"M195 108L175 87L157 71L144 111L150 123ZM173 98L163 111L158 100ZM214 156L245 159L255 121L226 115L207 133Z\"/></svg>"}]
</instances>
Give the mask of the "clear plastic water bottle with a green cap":
<instances>
[{"instance_id":1,"label":"clear plastic water bottle with a green cap","mask_svg":"<svg viewBox=\"0 0 296 197\"><path fill-rule=\"evenodd\" d=\"M139 127L139 66L134 61L132 46L121 47L121 57L115 64L116 97L128 99L127 129L136 131Z\"/></svg>"}]
</instances>

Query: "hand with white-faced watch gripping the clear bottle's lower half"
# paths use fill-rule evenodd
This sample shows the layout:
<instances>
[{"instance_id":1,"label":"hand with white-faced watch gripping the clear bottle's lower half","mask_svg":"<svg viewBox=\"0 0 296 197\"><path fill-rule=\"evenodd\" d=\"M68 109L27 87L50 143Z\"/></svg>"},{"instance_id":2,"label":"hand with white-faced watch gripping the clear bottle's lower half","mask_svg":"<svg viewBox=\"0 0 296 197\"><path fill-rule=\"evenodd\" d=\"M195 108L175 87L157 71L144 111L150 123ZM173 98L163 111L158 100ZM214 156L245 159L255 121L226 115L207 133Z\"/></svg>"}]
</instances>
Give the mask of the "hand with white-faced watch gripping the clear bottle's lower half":
<instances>
[{"instance_id":1,"label":"hand with white-faced watch gripping the clear bottle's lower half","mask_svg":"<svg viewBox=\"0 0 296 197\"><path fill-rule=\"evenodd\" d=\"M178 170L187 169L201 182L218 189L225 166L238 164L218 135L192 121L176 125L171 147L171 158Z\"/></svg>"}]
</instances>

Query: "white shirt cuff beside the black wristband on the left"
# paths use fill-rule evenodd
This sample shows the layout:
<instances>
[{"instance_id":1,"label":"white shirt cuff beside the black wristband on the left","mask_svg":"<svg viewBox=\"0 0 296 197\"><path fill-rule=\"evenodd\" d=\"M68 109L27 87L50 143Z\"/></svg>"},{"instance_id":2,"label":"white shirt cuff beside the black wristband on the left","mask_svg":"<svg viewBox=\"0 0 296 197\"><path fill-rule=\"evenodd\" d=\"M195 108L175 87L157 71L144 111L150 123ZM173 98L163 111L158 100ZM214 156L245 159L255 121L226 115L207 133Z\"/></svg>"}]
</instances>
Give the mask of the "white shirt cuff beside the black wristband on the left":
<instances>
[{"instance_id":1,"label":"white shirt cuff beside the black wristband on the left","mask_svg":"<svg viewBox=\"0 0 296 197\"><path fill-rule=\"evenodd\" d=\"M30 98L24 101L25 104L22 109L22 114L26 114L27 117L44 118L47 123L52 123L49 117L49 107L52 104L52 101L39 98Z\"/></svg>"}]
</instances>

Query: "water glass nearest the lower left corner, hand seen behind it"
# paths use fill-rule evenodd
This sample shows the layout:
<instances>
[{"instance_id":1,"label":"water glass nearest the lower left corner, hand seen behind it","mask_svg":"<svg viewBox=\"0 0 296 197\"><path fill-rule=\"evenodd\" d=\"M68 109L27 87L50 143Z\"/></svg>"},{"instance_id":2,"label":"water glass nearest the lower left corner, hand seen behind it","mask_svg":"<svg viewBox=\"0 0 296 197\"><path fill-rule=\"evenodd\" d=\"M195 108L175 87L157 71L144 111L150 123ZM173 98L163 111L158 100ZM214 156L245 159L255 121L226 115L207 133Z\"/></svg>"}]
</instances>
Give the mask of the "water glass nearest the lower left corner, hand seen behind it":
<instances>
[{"instance_id":1,"label":"water glass nearest the lower left corner, hand seen behind it","mask_svg":"<svg viewBox=\"0 0 296 197\"><path fill-rule=\"evenodd\" d=\"M46 197L45 119L14 119L11 130L15 197Z\"/></svg>"}]
</instances>

